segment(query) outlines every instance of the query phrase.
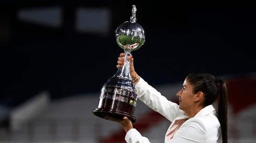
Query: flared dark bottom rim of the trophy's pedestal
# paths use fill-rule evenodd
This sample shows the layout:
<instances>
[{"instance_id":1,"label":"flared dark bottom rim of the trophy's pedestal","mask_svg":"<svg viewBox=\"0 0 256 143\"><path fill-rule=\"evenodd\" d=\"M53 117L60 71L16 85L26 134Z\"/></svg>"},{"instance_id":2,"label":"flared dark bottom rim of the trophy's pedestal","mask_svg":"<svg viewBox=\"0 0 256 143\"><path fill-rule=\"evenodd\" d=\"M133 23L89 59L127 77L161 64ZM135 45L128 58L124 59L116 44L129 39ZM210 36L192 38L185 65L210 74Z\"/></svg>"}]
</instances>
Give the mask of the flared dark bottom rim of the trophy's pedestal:
<instances>
[{"instance_id":1,"label":"flared dark bottom rim of the trophy's pedestal","mask_svg":"<svg viewBox=\"0 0 256 143\"><path fill-rule=\"evenodd\" d=\"M134 115L131 115L131 114L128 114L128 113L122 112L122 111L117 112L117 111L109 111L109 110L106 111L104 109L95 109L94 111L92 111L92 113L100 118L103 118L103 119L105 119L104 118L105 116L111 116L113 118L123 120L123 117L127 116L127 118L129 118L132 123L136 122ZM108 120L108 119L106 119L106 120Z\"/></svg>"}]
</instances>

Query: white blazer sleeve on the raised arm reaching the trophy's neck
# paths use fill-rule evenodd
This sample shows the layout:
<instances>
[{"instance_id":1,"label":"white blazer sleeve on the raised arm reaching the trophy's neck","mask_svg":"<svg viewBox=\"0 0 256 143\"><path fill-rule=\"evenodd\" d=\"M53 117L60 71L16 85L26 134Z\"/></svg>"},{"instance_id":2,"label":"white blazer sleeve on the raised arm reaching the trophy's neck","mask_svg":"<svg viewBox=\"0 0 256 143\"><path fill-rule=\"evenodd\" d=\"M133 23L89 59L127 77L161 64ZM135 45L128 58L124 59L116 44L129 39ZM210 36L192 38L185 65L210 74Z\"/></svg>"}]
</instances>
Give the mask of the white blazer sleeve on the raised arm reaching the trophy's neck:
<instances>
[{"instance_id":1,"label":"white blazer sleeve on the raised arm reaching the trophy's neck","mask_svg":"<svg viewBox=\"0 0 256 143\"><path fill-rule=\"evenodd\" d=\"M165 96L162 96L154 87L145 82L142 77L135 87L138 99L154 111L165 116L169 121L173 122L177 116L187 117L187 114L179 109L177 103L171 102Z\"/></svg>"}]
</instances>

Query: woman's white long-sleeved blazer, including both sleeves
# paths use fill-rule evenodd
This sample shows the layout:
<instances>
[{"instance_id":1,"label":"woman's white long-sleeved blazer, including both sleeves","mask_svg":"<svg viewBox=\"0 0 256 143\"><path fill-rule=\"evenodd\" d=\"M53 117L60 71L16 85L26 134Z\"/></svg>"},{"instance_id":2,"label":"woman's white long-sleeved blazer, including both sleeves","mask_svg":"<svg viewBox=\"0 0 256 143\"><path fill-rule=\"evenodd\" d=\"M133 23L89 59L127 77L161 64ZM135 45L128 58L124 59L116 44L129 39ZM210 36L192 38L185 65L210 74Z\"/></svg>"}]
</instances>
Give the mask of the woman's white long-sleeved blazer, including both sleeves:
<instances>
[{"instance_id":1,"label":"woman's white long-sleeved blazer, including both sleeves","mask_svg":"<svg viewBox=\"0 0 256 143\"><path fill-rule=\"evenodd\" d=\"M148 85L142 77L135 87L138 99L172 122L165 137L163 135L165 143L216 143L218 141L220 124L216 117L216 110L212 105L203 108L193 118L188 119L188 115L179 109L177 103L171 102L165 96L162 96L155 88ZM173 133L175 129L178 130ZM150 142L148 138L143 137L135 128L130 129L126 133L125 140L131 143Z\"/></svg>"}]
</instances>

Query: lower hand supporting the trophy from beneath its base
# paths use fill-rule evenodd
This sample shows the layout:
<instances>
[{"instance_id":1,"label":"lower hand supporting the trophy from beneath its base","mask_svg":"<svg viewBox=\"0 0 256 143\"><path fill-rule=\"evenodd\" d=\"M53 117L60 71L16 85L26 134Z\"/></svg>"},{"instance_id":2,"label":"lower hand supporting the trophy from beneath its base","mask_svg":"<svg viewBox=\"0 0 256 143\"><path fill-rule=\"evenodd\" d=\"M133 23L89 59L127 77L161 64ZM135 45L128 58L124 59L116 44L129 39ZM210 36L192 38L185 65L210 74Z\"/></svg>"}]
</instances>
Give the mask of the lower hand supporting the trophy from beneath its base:
<instances>
[{"instance_id":1,"label":"lower hand supporting the trophy from beneath its base","mask_svg":"<svg viewBox=\"0 0 256 143\"><path fill-rule=\"evenodd\" d=\"M123 120L114 118L112 116L104 116L104 119L120 123L126 133L133 128L132 121L129 118L127 118L127 116L124 116Z\"/></svg>"}]
</instances>

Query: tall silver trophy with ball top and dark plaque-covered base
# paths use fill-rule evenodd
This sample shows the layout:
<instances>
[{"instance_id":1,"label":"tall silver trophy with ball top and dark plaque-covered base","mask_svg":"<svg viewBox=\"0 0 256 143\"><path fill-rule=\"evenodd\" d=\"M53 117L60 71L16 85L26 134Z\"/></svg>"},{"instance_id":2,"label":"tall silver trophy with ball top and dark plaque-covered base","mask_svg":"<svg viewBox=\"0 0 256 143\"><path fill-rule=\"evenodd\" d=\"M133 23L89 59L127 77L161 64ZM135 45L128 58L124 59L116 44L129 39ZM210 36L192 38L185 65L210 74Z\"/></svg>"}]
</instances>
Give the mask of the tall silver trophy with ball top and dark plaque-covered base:
<instances>
[{"instance_id":1,"label":"tall silver trophy with ball top and dark plaque-covered base","mask_svg":"<svg viewBox=\"0 0 256 143\"><path fill-rule=\"evenodd\" d=\"M127 56L131 56L131 51L140 48L145 43L145 34L142 26L136 23L136 6L132 5L132 7L130 21L122 23L115 30L117 43L124 49L124 65L104 83L101 88L98 108L92 113L103 119L106 119L106 116L118 119L127 116L134 123L136 119L133 114L136 108L137 94L135 84L131 79L130 60L127 60Z\"/></svg>"}]
</instances>

